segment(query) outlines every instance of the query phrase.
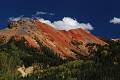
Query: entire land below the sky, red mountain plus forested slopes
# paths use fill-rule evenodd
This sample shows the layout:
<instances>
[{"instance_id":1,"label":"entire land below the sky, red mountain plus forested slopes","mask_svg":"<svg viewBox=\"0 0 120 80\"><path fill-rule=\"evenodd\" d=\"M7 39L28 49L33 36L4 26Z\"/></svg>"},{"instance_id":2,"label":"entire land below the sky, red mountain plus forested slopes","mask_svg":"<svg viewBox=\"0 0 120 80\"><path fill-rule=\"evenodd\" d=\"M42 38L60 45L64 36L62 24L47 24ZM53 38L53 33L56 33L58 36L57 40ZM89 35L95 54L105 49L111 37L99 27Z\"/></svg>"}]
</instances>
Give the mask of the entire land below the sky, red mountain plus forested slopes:
<instances>
[{"instance_id":1,"label":"entire land below the sky, red mountain plus forested slopes","mask_svg":"<svg viewBox=\"0 0 120 80\"><path fill-rule=\"evenodd\" d=\"M119 80L120 42L37 19L0 30L0 80Z\"/></svg>"}]
</instances>

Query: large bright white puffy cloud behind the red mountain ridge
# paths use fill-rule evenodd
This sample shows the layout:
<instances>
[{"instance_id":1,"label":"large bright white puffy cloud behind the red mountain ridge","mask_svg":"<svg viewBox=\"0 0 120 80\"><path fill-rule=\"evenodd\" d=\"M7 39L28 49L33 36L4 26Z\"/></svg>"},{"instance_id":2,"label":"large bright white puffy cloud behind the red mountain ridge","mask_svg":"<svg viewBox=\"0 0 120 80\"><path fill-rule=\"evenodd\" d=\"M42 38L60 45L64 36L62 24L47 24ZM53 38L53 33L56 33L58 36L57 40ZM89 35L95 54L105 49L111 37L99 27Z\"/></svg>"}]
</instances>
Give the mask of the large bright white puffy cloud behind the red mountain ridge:
<instances>
[{"instance_id":1,"label":"large bright white puffy cloud behind the red mountain ridge","mask_svg":"<svg viewBox=\"0 0 120 80\"><path fill-rule=\"evenodd\" d=\"M51 25L59 30L82 28L86 31L90 31L94 29L90 23L79 23L77 20L70 17L64 17L62 20L54 21L53 23L44 19L39 19L39 21Z\"/></svg>"}]
</instances>

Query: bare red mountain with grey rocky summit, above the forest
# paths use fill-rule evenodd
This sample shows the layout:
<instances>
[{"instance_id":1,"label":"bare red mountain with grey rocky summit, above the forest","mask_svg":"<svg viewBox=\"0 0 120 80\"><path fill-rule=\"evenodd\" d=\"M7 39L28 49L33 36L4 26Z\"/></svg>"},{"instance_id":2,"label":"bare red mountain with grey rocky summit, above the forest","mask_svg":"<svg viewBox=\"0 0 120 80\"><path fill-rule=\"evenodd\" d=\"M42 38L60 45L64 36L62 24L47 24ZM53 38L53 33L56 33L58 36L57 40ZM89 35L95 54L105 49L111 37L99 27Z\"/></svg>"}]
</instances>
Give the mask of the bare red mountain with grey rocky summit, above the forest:
<instances>
[{"instance_id":1,"label":"bare red mountain with grey rocky summit, above the forest","mask_svg":"<svg viewBox=\"0 0 120 80\"><path fill-rule=\"evenodd\" d=\"M80 55L89 55L85 47L88 43L106 44L81 28L68 31L58 30L37 19L30 18L11 21L8 28L0 30L1 42L8 42L12 37L17 41L24 37L29 46L37 49L41 49L39 43L42 43L63 59L68 57L79 59Z\"/></svg>"}]
</instances>

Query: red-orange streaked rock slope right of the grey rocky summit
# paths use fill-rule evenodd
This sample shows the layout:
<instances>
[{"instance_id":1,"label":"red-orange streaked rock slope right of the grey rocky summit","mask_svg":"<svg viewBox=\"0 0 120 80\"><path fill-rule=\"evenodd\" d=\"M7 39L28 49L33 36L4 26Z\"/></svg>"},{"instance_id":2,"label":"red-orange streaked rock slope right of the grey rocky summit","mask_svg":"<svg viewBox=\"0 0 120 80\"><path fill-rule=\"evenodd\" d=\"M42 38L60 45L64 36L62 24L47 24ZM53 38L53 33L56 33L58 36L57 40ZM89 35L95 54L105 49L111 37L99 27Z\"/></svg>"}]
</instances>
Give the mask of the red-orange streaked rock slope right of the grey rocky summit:
<instances>
[{"instance_id":1,"label":"red-orange streaked rock slope right of the grey rocky summit","mask_svg":"<svg viewBox=\"0 0 120 80\"><path fill-rule=\"evenodd\" d=\"M44 38L47 37L47 40L44 41L45 44L50 46L54 51L57 51L57 53L62 54L62 56L75 58L76 55L73 54L71 49L78 52L82 51L83 54L88 54L87 49L83 49L83 47L90 42L101 45L106 44L104 41L98 39L94 35L84 31L83 29L72 29L69 31L65 31L56 30L53 27L40 22L36 22L35 24L45 34L43 35ZM76 47L71 43L72 40L82 41L84 44ZM54 46L51 43L53 43Z\"/></svg>"}]
</instances>

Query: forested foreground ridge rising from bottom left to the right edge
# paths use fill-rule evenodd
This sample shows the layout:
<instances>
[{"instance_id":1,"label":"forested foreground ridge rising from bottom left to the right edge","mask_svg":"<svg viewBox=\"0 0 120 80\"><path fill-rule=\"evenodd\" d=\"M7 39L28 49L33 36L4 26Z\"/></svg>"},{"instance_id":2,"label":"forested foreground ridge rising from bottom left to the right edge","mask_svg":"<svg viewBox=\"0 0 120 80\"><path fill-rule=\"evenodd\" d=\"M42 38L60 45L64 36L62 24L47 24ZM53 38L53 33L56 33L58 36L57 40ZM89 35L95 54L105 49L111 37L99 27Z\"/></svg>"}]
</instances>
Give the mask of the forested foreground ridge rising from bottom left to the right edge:
<instances>
[{"instance_id":1,"label":"forested foreground ridge rising from bottom left to the right edge","mask_svg":"<svg viewBox=\"0 0 120 80\"><path fill-rule=\"evenodd\" d=\"M87 59L35 70L26 80L119 80L120 43L112 41L109 45L87 46L96 47Z\"/></svg>"}]
</instances>

